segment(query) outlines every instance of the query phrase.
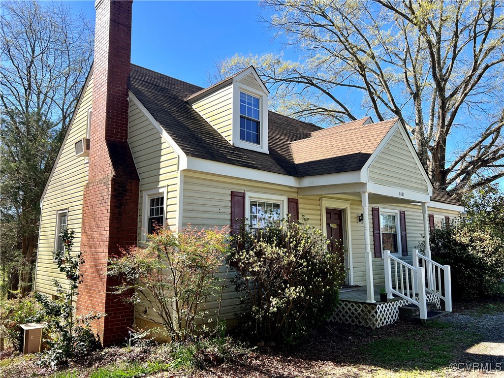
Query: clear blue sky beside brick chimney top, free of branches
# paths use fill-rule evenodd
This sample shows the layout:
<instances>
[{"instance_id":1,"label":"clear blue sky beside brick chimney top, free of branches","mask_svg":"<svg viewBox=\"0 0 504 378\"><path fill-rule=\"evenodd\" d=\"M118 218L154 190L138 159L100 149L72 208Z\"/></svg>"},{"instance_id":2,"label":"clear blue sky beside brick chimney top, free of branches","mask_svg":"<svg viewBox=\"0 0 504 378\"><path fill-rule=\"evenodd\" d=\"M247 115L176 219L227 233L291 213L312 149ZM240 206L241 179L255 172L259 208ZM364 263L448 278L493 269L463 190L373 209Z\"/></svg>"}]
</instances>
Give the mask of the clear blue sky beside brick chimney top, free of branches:
<instances>
[{"instance_id":1,"label":"clear blue sky beside brick chimney top, free of branches","mask_svg":"<svg viewBox=\"0 0 504 378\"><path fill-rule=\"evenodd\" d=\"M93 1L70 6L95 17ZM260 12L255 1L134 1L132 62L205 87L221 58L282 50Z\"/></svg>"}]
</instances>

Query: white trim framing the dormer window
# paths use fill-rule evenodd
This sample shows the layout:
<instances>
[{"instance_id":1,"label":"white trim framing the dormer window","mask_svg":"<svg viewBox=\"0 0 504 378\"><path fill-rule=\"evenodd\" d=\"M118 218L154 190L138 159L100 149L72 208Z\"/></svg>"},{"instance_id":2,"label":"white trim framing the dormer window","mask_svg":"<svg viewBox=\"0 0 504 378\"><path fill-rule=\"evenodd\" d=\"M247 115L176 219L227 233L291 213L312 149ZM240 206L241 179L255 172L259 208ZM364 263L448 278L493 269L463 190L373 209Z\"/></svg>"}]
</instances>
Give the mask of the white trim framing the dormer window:
<instances>
[{"instance_id":1,"label":"white trim framing the dormer window","mask_svg":"<svg viewBox=\"0 0 504 378\"><path fill-rule=\"evenodd\" d=\"M247 85L233 82L233 146L268 154L268 94ZM259 144L240 140L240 92L259 98Z\"/></svg>"}]
</instances>

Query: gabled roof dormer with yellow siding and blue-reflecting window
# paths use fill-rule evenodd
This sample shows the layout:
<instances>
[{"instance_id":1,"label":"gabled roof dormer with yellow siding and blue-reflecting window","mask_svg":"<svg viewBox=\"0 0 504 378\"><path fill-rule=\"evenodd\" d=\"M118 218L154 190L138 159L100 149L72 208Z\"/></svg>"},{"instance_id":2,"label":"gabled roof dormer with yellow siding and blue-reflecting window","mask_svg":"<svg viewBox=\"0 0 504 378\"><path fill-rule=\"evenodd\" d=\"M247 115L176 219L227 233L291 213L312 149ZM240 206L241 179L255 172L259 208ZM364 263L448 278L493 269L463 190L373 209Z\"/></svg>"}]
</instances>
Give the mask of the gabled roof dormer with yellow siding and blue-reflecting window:
<instances>
[{"instance_id":1,"label":"gabled roof dormer with yellow siding and blue-reflecting window","mask_svg":"<svg viewBox=\"0 0 504 378\"><path fill-rule=\"evenodd\" d=\"M186 101L232 146L267 154L268 94L250 66Z\"/></svg>"}]
</instances>

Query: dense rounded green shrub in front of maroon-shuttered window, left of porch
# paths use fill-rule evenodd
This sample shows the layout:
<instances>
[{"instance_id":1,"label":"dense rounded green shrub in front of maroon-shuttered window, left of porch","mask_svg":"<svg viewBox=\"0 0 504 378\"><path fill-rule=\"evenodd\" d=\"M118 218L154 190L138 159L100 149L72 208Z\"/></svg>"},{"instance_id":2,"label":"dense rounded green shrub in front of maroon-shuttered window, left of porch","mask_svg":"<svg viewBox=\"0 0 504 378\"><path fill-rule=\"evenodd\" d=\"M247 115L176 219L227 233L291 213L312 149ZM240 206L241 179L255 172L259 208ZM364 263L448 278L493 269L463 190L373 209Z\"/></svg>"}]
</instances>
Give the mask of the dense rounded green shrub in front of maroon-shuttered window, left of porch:
<instances>
[{"instance_id":1,"label":"dense rounded green shrub in front of maroon-shuttered window, left of porch","mask_svg":"<svg viewBox=\"0 0 504 378\"><path fill-rule=\"evenodd\" d=\"M253 340L296 343L334 313L343 265L320 229L265 223L259 230L243 226L230 258L242 294L237 317Z\"/></svg>"}]
</instances>

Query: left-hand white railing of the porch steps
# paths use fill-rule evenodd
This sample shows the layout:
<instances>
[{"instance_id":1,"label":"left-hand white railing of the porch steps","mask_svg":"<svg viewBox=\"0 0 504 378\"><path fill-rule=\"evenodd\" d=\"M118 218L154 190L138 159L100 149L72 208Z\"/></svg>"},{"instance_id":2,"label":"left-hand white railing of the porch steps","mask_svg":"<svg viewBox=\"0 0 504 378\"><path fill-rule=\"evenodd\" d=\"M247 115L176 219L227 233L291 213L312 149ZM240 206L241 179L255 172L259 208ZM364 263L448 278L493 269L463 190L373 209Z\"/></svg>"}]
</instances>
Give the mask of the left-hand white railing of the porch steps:
<instances>
[{"instance_id":1,"label":"left-hand white railing of the porch steps","mask_svg":"<svg viewBox=\"0 0 504 378\"><path fill-rule=\"evenodd\" d=\"M390 250L384 250L384 260L387 297L392 299L392 295L395 294L416 304L420 308L420 319L427 319L424 268L418 264L416 267L409 265L392 256Z\"/></svg>"}]
</instances>

